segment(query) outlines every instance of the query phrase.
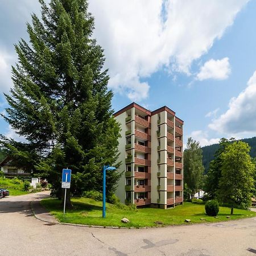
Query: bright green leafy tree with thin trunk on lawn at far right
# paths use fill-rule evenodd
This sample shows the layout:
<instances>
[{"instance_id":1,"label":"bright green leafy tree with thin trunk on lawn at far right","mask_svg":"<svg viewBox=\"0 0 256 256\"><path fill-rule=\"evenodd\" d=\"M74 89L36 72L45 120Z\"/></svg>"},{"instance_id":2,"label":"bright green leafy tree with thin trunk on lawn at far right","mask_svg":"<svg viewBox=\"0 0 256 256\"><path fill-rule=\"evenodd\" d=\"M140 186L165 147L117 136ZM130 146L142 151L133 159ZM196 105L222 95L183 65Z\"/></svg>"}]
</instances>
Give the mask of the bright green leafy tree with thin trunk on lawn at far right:
<instances>
[{"instance_id":1,"label":"bright green leafy tree with thin trunk on lawn at far right","mask_svg":"<svg viewBox=\"0 0 256 256\"><path fill-rule=\"evenodd\" d=\"M229 144L221 154L221 178L217 191L222 203L250 207L254 188L255 165L249 155L250 147L245 142Z\"/></svg>"}]
</instances>

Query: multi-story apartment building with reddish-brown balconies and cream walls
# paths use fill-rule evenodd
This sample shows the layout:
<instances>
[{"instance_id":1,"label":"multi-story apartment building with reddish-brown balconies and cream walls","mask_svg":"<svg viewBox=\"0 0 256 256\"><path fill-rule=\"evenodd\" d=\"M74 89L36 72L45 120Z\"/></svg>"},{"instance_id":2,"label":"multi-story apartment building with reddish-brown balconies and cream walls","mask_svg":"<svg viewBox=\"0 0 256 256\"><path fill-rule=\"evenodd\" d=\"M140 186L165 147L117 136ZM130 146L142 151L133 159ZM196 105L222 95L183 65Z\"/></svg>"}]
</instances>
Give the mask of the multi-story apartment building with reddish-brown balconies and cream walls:
<instances>
[{"instance_id":1,"label":"multi-story apartment building with reddish-brown balconies and cream walls","mask_svg":"<svg viewBox=\"0 0 256 256\"><path fill-rule=\"evenodd\" d=\"M163 106L153 112L132 103L114 114L121 124L123 172L117 196L138 207L183 203L183 121Z\"/></svg>"}]
</instances>

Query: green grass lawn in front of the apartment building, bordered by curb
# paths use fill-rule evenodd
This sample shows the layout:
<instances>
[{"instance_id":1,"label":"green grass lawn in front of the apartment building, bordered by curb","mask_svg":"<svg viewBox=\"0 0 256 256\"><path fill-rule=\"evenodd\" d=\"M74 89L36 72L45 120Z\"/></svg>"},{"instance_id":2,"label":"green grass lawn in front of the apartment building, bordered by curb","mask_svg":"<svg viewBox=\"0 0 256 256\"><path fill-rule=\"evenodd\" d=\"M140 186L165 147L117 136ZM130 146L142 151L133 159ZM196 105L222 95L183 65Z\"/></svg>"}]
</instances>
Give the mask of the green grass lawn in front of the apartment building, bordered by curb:
<instances>
[{"instance_id":1,"label":"green grass lawn in front of the apartment building, bordered by curb","mask_svg":"<svg viewBox=\"0 0 256 256\"><path fill-rule=\"evenodd\" d=\"M255 217L256 212L249 210L234 209L233 216L229 219L230 209L220 207L218 218L209 217L204 212L204 205L184 203L171 209L119 209L112 204L106 204L106 218L102 218L102 202L94 201L84 197L72 199L73 209L66 210L63 215L63 207L60 200L44 199L41 204L46 207L60 222L68 222L73 224L99 225L99 226L118 226L118 227L146 227L158 226L155 221L161 221L164 225L184 224L184 220L189 218L191 223L201 222L218 222L227 220L236 220L238 218ZM123 224L121 219L126 217L130 223ZM206 218L206 221L200 220Z\"/></svg>"}]
</instances>

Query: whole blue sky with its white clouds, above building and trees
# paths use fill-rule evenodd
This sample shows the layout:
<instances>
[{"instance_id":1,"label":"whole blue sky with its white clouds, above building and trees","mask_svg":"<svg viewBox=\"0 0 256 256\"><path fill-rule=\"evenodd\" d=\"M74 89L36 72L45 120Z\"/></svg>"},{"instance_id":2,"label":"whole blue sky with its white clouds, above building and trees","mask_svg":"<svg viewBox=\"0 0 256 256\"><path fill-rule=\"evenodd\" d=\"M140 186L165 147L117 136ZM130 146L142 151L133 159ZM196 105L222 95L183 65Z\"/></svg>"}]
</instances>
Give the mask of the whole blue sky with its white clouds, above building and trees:
<instances>
[{"instance_id":1,"label":"whole blue sky with its white clouds, above building and trees","mask_svg":"<svg viewBox=\"0 0 256 256\"><path fill-rule=\"evenodd\" d=\"M184 142L202 146L256 131L256 2L247 0L90 1L94 37L105 49L113 108L167 105L184 120ZM2 0L0 112L11 87L13 44L27 39L36 1ZM0 119L0 133L16 138Z\"/></svg>"}]
</instances>

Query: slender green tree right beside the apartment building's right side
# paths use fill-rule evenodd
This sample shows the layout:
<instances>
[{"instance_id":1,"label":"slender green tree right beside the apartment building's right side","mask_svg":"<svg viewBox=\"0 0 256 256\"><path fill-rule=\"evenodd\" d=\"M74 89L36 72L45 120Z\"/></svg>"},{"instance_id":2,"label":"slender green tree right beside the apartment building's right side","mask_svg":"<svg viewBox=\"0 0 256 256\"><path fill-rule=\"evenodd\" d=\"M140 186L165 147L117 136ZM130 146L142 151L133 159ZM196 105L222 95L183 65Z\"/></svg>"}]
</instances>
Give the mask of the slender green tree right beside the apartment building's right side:
<instances>
[{"instance_id":1,"label":"slender green tree right beside the apartment building's right side","mask_svg":"<svg viewBox=\"0 0 256 256\"><path fill-rule=\"evenodd\" d=\"M199 142L188 138L187 148L184 150L184 183L192 193L200 189L204 167L202 164L202 150Z\"/></svg>"}]
</instances>

